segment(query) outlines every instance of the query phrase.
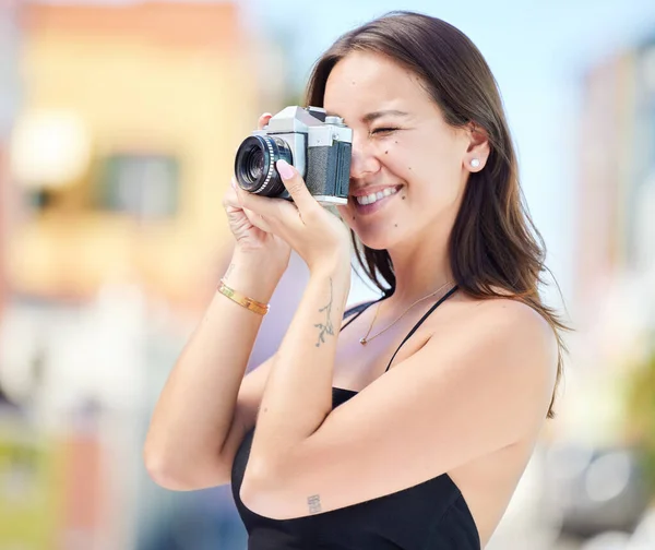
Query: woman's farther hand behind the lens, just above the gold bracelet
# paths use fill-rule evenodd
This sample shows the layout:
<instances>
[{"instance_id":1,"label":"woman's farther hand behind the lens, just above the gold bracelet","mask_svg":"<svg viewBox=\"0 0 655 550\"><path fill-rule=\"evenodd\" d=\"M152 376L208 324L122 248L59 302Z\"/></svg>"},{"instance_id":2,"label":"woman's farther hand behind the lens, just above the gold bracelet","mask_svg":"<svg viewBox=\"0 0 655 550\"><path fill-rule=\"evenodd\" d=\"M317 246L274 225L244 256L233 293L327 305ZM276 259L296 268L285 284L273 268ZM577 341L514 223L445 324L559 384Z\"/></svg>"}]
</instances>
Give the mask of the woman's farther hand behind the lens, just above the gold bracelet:
<instances>
[{"instance_id":1,"label":"woman's farther hand behind the lens, just above the gold bracelet","mask_svg":"<svg viewBox=\"0 0 655 550\"><path fill-rule=\"evenodd\" d=\"M262 115L258 121L258 129L262 130L271 115ZM289 262L290 247L279 237L273 235L259 214L245 208L237 195L238 184L233 177L233 182L223 198L223 207L227 214L229 228L237 241L237 249L247 254L273 256L279 261L283 271Z\"/></svg>"}]
</instances>

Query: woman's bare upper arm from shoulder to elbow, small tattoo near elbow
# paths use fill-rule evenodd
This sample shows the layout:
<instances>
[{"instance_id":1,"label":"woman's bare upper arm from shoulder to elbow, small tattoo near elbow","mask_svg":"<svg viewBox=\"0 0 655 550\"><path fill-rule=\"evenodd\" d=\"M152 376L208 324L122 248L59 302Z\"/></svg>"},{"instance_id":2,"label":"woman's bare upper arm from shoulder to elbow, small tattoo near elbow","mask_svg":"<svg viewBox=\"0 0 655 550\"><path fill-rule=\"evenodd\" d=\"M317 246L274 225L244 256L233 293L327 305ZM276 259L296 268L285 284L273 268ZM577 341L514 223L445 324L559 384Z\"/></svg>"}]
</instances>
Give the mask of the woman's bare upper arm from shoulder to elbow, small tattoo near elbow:
<instances>
[{"instance_id":1,"label":"woman's bare upper arm from shoulder to elbow, small tattoo near elbow","mask_svg":"<svg viewBox=\"0 0 655 550\"><path fill-rule=\"evenodd\" d=\"M501 299L465 319L446 316L440 327L305 441L272 450L269 463L260 454L241 487L246 506L274 519L330 512L535 441L557 372L548 324L527 306ZM298 426L286 418L283 441Z\"/></svg>"}]
</instances>

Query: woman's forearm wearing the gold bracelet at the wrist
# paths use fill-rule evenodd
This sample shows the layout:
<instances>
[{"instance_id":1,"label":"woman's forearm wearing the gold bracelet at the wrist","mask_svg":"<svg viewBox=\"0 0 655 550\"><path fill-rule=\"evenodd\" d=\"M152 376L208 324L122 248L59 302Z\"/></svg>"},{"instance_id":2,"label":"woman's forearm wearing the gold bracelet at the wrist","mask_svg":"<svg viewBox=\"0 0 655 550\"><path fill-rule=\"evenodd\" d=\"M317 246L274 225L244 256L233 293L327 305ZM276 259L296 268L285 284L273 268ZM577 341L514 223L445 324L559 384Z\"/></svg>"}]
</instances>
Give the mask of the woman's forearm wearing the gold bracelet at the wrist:
<instances>
[{"instance_id":1,"label":"woman's forearm wearing the gold bracelet at the wrist","mask_svg":"<svg viewBox=\"0 0 655 550\"><path fill-rule=\"evenodd\" d=\"M226 284L267 302L282 276L263 259L236 253ZM262 316L216 292L177 360L153 412L144 457L176 476L217 461Z\"/></svg>"}]
</instances>

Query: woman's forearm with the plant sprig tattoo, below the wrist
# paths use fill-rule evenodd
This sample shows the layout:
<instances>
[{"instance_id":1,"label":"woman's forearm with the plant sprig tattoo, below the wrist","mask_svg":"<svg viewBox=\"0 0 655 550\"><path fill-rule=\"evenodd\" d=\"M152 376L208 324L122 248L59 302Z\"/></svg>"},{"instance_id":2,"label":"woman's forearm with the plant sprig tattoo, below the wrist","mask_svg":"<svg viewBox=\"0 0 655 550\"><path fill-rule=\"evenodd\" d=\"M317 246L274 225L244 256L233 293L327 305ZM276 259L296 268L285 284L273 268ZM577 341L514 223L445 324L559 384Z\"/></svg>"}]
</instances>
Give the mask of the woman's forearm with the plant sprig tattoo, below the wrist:
<instances>
[{"instance_id":1,"label":"woman's forearm with the plant sprig tattoo, below the wrist","mask_svg":"<svg viewBox=\"0 0 655 550\"><path fill-rule=\"evenodd\" d=\"M348 262L312 273L276 354L260 407L249 465L272 467L332 410L336 342L350 285Z\"/></svg>"}]
</instances>

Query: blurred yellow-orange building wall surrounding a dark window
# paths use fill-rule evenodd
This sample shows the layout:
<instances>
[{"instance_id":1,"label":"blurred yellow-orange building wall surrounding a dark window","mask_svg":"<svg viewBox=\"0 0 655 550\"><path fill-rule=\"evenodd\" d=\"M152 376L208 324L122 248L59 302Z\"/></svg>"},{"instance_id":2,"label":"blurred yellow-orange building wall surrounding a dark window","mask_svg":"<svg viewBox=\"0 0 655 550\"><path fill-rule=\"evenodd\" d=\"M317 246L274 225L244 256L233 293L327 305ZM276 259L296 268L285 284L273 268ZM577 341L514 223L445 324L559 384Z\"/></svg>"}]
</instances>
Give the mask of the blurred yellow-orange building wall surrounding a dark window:
<instances>
[{"instance_id":1,"label":"blurred yellow-orange building wall surrounding a dark window","mask_svg":"<svg viewBox=\"0 0 655 550\"><path fill-rule=\"evenodd\" d=\"M229 2L26 10L17 127L63 112L82 121L91 155L79 177L58 182L50 207L22 213L8 252L15 291L84 300L105 280L136 280L174 304L202 302L227 238L221 200L235 147L254 125L248 44ZM177 158L175 216L91 205L98 159L126 152Z\"/></svg>"}]
</instances>

